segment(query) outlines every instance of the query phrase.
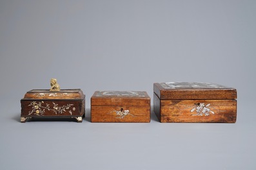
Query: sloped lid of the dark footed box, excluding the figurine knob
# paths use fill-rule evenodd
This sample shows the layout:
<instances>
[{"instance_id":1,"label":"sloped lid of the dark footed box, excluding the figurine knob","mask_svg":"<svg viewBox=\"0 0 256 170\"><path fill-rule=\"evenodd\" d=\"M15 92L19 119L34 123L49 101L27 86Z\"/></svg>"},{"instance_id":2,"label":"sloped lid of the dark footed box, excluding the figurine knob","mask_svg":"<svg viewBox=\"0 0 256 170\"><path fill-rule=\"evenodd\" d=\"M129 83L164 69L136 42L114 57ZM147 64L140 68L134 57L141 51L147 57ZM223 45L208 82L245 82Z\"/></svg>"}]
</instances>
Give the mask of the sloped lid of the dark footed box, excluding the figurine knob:
<instances>
[{"instance_id":1,"label":"sloped lid of the dark footed box, excluding the figurine knob","mask_svg":"<svg viewBox=\"0 0 256 170\"><path fill-rule=\"evenodd\" d=\"M83 100L85 98L81 89L62 89L59 92L50 92L45 89L34 89L26 92L23 100Z\"/></svg>"}]
</instances>

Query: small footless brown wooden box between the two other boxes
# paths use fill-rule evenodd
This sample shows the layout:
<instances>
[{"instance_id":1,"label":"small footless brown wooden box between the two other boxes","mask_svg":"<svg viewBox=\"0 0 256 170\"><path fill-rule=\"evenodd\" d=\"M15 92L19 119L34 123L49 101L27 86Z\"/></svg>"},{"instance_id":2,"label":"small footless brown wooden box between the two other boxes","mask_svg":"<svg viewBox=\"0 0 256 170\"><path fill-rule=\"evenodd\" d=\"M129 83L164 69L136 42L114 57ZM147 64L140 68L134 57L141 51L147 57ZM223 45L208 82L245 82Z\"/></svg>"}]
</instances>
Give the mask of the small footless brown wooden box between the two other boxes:
<instances>
[{"instance_id":1,"label":"small footless brown wooden box between the two other boxes","mask_svg":"<svg viewBox=\"0 0 256 170\"><path fill-rule=\"evenodd\" d=\"M92 123L150 123L150 97L138 91L96 91L91 98Z\"/></svg>"}]
</instances>

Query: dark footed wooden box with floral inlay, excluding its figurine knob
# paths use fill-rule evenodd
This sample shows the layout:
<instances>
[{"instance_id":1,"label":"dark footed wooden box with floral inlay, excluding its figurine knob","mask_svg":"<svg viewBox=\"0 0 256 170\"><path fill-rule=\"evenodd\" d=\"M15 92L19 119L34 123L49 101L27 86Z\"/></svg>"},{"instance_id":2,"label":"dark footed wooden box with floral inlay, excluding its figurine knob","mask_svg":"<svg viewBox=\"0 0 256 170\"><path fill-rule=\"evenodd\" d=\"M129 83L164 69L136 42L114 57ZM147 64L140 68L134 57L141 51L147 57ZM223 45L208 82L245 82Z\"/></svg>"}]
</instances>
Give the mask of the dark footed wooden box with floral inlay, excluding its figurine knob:
<instances>
[{"instance_id":1,"label":"dark footed wooden box with floral inlay, excluding its figurine knob","mask_svg":"<svg viewBox=\"0 0 256 170\"><path fill-rule=\"evenodd\" d=\"M30 90L21 99L21 122L28 118L75 118L82 122L85 96L81 89Z\"/></svg>"}]
</instances>

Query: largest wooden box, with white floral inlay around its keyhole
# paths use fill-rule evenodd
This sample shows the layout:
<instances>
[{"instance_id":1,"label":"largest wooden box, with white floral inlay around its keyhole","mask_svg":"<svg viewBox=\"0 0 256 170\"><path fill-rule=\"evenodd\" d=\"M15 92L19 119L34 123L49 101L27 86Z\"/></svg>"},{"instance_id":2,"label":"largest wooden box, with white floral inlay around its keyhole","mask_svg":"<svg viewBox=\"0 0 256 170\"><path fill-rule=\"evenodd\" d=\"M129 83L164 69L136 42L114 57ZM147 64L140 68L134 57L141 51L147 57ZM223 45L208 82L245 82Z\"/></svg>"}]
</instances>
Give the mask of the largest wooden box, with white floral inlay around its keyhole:
<instances>
[{"instance_id":1,"label":"largest wooden box, with white floral inlay around its keyhole","mask_svg":"<svg viewBox=\"0 0 256 170\"><path fill-rule=\"evenodd\" d=\"M213 83L153 84L153 110L161 123L235 123L237 90Z\"/></svg>"}]
</instances>

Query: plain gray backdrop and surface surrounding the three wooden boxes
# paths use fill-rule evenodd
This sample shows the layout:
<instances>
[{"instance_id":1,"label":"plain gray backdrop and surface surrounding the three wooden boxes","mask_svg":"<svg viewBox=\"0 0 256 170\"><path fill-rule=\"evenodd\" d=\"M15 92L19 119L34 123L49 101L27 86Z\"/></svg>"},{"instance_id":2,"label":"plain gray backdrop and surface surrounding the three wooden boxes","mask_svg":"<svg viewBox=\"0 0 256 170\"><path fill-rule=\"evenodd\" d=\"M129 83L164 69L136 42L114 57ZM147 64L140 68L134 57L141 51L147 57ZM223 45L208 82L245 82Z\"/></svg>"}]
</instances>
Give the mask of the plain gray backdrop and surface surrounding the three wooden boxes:
<instances>
[{"instance_id":1,"label":"plain gray backdrop and surface surrounding the three wooden boxes","mask_svg":"<svg viewBox=\"0 0 256 170\"><path fill-rule=\"evenodd\" d=\"M0 169L256 169L256 1L0 1ZM83 123L19 123L28 90L86 94ZM212 82L235 124L90 123L95 90Z\"/></svg>"}]
</instances>

